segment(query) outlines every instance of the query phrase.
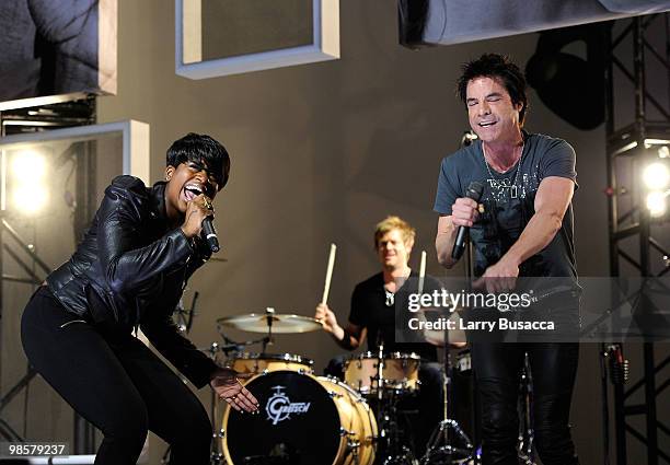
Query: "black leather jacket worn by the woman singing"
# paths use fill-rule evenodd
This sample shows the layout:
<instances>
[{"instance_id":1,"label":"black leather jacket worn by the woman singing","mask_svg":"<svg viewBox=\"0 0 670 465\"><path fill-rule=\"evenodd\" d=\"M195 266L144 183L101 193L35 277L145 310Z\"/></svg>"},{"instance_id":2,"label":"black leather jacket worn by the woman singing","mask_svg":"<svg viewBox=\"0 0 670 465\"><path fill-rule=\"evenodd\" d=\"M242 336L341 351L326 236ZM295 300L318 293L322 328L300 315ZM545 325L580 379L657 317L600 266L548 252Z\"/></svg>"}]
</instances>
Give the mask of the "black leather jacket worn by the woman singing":
<instances>
[{"instance_id":1,"label":"black leather jacket worn by the woman singing","mask_svg":"<svg viewBox=\"0 0 670 465\"><path fill-rule=\"evenodd\" d=\"M47 284L69 312L105 332L140 326L151 344L196 386L217 368L172 321L186 281L210 256L199 240L171 230L165 183L145 186L118 176L105 189L93 223Z\"/></svg>"}]
</instances>

